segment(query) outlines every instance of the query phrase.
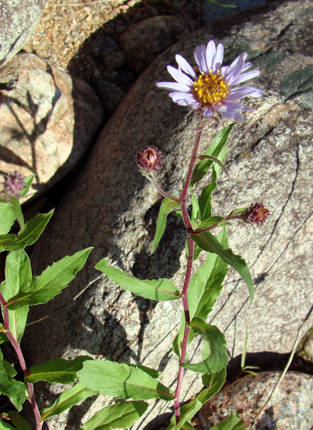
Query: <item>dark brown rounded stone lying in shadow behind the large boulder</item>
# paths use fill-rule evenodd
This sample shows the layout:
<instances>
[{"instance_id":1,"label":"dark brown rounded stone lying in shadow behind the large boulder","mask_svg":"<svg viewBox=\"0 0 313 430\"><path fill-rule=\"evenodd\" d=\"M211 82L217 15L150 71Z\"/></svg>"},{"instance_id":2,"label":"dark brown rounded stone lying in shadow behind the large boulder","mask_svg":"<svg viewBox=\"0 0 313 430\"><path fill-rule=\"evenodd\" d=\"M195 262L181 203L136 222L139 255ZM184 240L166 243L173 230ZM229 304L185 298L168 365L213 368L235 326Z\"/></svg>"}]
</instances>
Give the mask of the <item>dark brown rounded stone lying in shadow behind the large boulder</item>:
<instances>
[{"instance_id":1,"label":"dark brown rounded stone lying in shadow behind the large boulder","mask_svg":"<svg viewBox=\"0 0 313 430\"><path fill-rule=\"evenodd\" d=\"M120 43L129 65L140 73L187 32L186 23L176 16L154 16L130 25L121 35Z\"/></svg>"}]
</instances>

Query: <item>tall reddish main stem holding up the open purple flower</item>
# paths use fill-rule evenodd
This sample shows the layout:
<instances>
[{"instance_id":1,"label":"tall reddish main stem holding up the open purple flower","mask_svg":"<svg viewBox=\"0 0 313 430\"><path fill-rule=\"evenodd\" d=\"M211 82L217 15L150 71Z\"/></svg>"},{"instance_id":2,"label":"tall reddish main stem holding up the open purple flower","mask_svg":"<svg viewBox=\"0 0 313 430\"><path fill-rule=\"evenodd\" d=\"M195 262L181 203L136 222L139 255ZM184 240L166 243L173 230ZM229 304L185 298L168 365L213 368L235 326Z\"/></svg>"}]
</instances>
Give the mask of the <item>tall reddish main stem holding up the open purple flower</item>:
<instances>
[{"instance_id":1,"label":"tall reddish main stem holding up the open purple flower","mask_svg":"<svg viewBox=\"0 0 313 430\"><path fill-rule=\"evenodd\" d=\"M190 185L190 181L191 181L191 178L192 178L192 173L193 173L193 169L194 169L194 166L195 166L195 161L196 161L196 158L197 158L197 152L198 152L198 147L199 147L200 139L201 139L201 136L202 136L203 128L204 128L204 124L203 124L202 129L199 130L199 131L197 131L197 134L196 134L196 137L195 137L195 141L194 141L194 144L193 144L193 149L192 149L192 154L191 154L190 162L189 162L189 167L188 167L188 172L187 172L187 176L186 176L186 181L185 181L185 184L184 184L181 196L180 196L182 217L183 217L184 224L185 224L185 227L186 227L186 230L187 230L188 261L187 261L187 269L186 269L186 274L185 274L184 286L183 286L183 289L182 289L182 302L183 302L184 313L185 313L185 330L184 330L184 336L183 336L183 340L182 340L182 347L181 347L181 354L180 354L179 364L182 364L182 363L185 362L186 349L187 349L187 343L188 343L188 336L189 336L189 332L190 332L190 327L188 326L188 324L190 323L190 315L189 315L189 305L188 305L187 291L188 291L188 287L189 287L189 283L190 283L190 279L191 279L191 271L192 271L192 264L193 264L193 254L194 254L194 248L195 248L195 243L194 243L194 241L190 237L190 233L193 232L193 229L191 227L190 219L189 219L188 212L187 212L186 196L187 196L187 191L188 191L188 188L189 188L189 185ZM174 401L176 424L180 420L179 395L180 395L180 390L181 390L183 376L184 376L184 367L182 367L181 365L179 365L178 378L177 378L177 386L176 386L176 390L175 390L175 401Z\"/></svg>"}]
</instances>

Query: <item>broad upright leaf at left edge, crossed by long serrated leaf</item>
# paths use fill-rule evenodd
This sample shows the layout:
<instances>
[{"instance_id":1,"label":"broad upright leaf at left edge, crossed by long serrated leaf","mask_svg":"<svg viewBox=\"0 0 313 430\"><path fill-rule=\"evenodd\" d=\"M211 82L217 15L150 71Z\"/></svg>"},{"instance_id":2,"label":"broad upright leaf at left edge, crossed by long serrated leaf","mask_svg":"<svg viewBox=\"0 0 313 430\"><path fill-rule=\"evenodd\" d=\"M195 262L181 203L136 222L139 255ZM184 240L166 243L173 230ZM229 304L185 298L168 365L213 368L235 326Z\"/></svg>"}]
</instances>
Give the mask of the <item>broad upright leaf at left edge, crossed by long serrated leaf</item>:
<instances>
[{"instance_id":1,"label":"broad upright leaf at left edge, crossed by long serrated leaf","mask_svg":"<svg viewBox=\"0 0 313 430\"><path fill-rule=\"evenodd\" d=\"M11 251L5 262L5 281L1 283L0 289L5 301L18 294L24 286L31 282L31 266L25 251ZM29 307L24 306L17 310L9 310L9 327L12 335L20 343L24 334Z\"/></svg>"}]
</instances>

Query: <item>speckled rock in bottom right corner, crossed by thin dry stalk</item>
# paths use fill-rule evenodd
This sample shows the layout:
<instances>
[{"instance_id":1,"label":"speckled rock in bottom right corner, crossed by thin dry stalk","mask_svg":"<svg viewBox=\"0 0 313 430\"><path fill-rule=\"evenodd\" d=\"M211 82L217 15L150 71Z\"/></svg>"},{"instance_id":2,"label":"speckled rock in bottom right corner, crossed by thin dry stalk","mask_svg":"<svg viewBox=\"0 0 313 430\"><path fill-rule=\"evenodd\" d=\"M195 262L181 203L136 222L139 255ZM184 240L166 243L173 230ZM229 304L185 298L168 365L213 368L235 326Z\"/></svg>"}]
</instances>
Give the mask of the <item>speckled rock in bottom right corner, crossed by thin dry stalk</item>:
<instances>
[{"instance_id":1,"label":"speckled rock in bottom right corner, crossed by thin dry stalk","mask_svg":"<svg viewBox=\"0 0 313 430\"><path fill-rule=\"evenodd\" d=\"M254 421L271 394L281 372L247 375L223 388L200 410L193 425L208 430L243 409L243 421ZM308 430L313 423L313 377L305 373L287 372L274 392L255 430Z\"/></svg>"}]
</instances>

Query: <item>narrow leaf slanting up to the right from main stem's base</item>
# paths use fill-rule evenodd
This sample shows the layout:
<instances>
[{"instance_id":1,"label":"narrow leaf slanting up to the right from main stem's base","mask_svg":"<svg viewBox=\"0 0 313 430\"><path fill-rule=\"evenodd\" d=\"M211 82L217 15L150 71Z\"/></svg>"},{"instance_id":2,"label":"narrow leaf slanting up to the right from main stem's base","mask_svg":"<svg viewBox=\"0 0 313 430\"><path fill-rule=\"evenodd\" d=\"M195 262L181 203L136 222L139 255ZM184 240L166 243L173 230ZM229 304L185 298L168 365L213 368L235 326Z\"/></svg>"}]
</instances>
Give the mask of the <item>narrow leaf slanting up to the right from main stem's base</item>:
<instances>
[{"instance_id":1,"label":"narrow leaf slanting up to the right from main stem's base","mask_svg":"<svg viewBox=\"0 0 313 430\"><path fill-rule=\"evenodd\" d=\"M180 408L180 420L177 424L175 422L175 414L172 416L167 430L192 429L193 427L188 421L192 420L202 406L220 391L225 382L225 378L226 368L223 368L220 372L213 373L211 375L209 387L202 390L194 400Z\"/></svg>"}]
</instances>

